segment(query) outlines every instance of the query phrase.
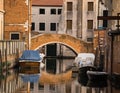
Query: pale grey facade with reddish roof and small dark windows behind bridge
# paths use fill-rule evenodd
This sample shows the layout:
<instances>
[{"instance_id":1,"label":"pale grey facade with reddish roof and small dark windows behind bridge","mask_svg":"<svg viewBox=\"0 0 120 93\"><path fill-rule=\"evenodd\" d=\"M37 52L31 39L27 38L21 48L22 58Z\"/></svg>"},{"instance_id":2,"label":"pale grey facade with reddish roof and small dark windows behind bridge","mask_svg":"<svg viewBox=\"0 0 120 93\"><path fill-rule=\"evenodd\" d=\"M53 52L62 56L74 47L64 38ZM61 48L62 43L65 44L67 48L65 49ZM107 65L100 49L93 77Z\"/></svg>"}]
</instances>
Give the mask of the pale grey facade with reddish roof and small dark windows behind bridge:
<instances>
[{"instance_id":1,"label":"pale grey facade with reddish roof and small dark windows behind bridge","mask_svg":"<svg viewBox=\"0 0 120 93\"><path fill-rule=\"evenodd\" d=\"M33 0L32 33L57 33L62 0Z\"/></svg>"}]
</instances>

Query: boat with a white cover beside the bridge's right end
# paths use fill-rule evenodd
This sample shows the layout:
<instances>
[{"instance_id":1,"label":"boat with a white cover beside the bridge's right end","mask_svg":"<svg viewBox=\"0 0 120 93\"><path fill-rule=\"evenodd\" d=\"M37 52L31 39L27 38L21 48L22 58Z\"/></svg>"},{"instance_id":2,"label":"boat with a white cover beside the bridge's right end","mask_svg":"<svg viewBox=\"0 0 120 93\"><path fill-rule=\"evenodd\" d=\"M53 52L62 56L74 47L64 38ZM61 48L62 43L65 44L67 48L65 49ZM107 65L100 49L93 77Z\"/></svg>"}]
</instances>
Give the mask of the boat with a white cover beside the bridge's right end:
<instances>
[{"instance_id":1,"label":"boat with a white cover beside the bridge's right end","mask_svg":"<svg viewBox=\"0 0 120 93\"><path fill-rule=\"evenodd\" d=\"M79 53L75 58L74 64L79 68L80 75L87 76L88 70L96 70L94 67L95 55L93 53Z\"/></svg>"}]
</instances>

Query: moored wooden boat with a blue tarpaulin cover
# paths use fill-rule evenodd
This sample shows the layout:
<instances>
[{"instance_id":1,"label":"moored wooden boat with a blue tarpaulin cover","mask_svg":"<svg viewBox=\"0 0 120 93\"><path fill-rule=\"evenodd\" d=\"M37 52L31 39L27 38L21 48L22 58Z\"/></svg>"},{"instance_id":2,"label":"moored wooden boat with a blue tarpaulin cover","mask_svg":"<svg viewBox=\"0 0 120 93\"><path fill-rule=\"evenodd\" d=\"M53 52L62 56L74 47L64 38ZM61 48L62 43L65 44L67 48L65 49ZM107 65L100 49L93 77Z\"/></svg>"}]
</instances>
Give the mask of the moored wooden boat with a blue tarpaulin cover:
<instances>
[{"instance_id":1,"label":"moored wooden boat with a blue tarpaulin cover","mask_svg":"<svg viewBox=\"0 0 120 93\"><path fill-rule=\"evenodd\" d=\"M43 57L36 50L25 50L19 58L20 67L40 67Z\"/></svg>"}]
</instances>

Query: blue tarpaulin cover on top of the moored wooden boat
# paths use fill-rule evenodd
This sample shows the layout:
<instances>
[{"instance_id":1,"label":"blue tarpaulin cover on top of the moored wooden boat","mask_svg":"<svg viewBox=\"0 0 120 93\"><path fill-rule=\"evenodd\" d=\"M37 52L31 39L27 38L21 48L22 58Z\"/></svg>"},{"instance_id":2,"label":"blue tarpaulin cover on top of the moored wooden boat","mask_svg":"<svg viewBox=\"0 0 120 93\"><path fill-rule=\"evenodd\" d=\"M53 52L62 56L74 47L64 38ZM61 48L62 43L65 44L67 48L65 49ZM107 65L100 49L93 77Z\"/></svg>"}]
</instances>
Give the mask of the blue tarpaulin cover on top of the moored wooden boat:
<instances>
[{"instance_id":1,"label":"blue tarpaulin cover on top of the moored wooden boat","mask_svg":"<svg viewBox=\"0 0 120 93\"><path fill-rule=\"evenodd\" d=\"M19 60L25 60L25 61L40 61L41 57L38 51L36 50L25 50L23 51L22 56L19 58Z\"/></svg>"}]
</instances>

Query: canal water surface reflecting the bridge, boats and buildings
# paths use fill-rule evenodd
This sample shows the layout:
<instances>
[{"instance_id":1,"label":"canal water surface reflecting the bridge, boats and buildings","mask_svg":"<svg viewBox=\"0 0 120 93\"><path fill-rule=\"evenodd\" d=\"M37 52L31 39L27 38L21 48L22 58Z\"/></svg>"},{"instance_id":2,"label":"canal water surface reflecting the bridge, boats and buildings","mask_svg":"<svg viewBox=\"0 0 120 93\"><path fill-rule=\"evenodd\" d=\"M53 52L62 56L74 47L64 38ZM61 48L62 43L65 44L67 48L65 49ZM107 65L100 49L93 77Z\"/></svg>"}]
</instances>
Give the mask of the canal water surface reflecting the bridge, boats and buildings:
<instances>
[{"instance_id":1,"label":"canal water surface reflecting the bridge, boats and buildings","mask_svg":"<svg viewBox=\"0 0 120 93\"><path fill-rule=\"evenodd\" d=\"M90 82L72 72L74 59L48 58L43 68L10 69L0 75L0 93L120 93L119 85Z\"/></svg>"}]
</instances>

